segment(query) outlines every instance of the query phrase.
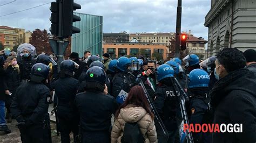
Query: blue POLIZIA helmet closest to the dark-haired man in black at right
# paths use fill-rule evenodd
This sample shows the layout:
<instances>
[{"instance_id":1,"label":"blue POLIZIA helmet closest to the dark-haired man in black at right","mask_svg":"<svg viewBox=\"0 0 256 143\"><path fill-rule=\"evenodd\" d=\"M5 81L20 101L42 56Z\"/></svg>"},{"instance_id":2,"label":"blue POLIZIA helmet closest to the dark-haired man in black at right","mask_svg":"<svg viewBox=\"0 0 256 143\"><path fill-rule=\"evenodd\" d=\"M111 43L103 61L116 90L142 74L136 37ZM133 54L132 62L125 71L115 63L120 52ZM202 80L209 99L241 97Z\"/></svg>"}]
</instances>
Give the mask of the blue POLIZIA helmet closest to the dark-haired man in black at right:
<instances>
[{"instance_id":1,"label":"blue POLIZIA helmet closest to the dark-haired man in black at right","mask_svg":"<svg viewBox=\"0 0 256 143\"><path fill-rule=\"evenodd\" d=\"M203 69L194 69L188 75L188 88L208 87L210 76Z\"/></svg>"}]
</instances>

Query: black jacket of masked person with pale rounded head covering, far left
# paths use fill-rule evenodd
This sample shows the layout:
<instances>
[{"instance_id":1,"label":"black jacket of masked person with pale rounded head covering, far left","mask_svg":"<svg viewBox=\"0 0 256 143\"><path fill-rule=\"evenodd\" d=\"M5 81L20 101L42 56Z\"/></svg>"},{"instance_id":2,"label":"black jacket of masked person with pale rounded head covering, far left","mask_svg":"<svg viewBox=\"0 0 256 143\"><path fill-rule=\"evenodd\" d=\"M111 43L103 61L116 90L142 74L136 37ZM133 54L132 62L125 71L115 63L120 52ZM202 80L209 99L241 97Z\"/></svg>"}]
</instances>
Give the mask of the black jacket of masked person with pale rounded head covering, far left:
<instances>
[{"instance_id":1,"label":"black jacket of masked person with pale rounded head covering, far left","mask_svg":"<svg viewBox=\"0 0 256 143\"><path fill-rule=\"evenodd\" d=\"M21 80L28 80L31 74L31 69L35 65L36 59L29 55L28 58L22 56L21 61L18 61L19 69L21 70Z\"/></svg>"}]
</instances>

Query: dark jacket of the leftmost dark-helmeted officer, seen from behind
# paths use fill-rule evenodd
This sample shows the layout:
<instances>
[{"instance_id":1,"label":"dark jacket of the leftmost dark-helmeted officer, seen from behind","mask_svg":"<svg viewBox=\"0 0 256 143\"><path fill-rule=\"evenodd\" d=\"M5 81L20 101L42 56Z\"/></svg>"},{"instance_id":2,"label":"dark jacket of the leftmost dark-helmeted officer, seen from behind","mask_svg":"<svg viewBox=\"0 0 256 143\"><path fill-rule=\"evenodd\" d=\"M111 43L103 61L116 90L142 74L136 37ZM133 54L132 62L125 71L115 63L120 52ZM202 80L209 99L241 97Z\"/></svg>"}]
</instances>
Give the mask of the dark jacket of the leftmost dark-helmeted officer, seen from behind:
<instances>
[{"instance_id":1,"label":"dark jacket of the leftmost dark-helmeted officer, seen from behind","mask_svg":"<svg viewBox=\"0 0 256 143\"><path fill-rule=\"evenodd\" d=\"M25 82L16 90L11 104L14 118L22 116L27 125L41 124L48 113L50 89L43 83Z\"/></svg>"}]
</instances>

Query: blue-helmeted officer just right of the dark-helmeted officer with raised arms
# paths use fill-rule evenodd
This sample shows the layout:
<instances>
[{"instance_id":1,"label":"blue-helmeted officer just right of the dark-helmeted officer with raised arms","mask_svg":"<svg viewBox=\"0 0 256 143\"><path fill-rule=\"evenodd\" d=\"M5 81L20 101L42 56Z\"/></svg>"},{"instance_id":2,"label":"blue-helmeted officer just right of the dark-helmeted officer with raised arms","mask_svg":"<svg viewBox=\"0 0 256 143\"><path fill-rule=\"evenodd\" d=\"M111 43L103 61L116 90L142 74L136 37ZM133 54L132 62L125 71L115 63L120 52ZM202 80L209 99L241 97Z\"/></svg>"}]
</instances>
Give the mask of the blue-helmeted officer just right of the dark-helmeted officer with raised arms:
<instances>
[{"instance_id":1,"label":"blue-helmeted officer just right of the dark-helmeted officer with raised arms","mask_svg":"<svg viewBox=\"0 0 256 143\"><path fill-rule=\"evenodd\" d=\"M131 61L122 56L117 60L117 73L113 77L113 96L117 98L118 103L122 104L124 102L124 98L120 95L121 91L124 90L126 93L130 91L130 87L132 82L129 78L129 68L131 66Z\"/></svg>"}]
</instances>

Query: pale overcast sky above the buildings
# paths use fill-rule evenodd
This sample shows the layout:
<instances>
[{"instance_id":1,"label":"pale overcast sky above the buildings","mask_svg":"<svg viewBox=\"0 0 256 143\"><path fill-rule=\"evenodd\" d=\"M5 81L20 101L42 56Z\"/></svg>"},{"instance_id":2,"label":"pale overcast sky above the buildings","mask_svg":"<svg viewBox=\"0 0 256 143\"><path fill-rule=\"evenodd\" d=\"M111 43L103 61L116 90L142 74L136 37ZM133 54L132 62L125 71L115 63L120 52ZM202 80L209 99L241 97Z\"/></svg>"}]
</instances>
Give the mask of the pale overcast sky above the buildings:
<instances>
[{"instance_id":1,"label":"pale overcast sky above the buildings","mask_svg":"<svg viewBox=\"0 0 256 143\"><path fill-rule=\"evenodd\" d=\"M14 2L12 2L14 1ZM80 13L103 16L103 32L175 32L178 0L75 0L82 6ZM12 3L9 3L12 2ZM50 0L1 0L0 25L49 30ZM9 3L9 4L6 4ZM34 9L25 10L42 5ZM3 5L6 4L6 5ZM181 31L191 30L197 37L207 39L205 16L211 0L183 0ZM16 11L12 15L3 16Z\"/></svg>"}]
</instances>

